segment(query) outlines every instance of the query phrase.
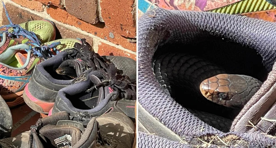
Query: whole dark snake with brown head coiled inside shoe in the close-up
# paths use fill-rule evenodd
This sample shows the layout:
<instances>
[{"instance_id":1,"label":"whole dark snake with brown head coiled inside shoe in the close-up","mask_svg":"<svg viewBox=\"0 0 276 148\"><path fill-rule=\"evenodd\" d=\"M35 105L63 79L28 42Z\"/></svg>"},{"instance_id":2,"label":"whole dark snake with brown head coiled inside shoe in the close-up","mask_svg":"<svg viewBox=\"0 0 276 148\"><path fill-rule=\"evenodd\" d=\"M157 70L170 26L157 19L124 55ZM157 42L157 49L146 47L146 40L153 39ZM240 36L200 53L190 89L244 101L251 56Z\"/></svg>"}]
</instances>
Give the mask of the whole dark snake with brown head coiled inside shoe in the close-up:
<instances>
[{"instance_id":1,"label":"whole dark snake with brown head coiled inside shoe in the close-up","mask_svg":"<svg viewBox=\"0 0 276 148\"><path fill-rule=\"evenodd\" d=\"M205 123L225 132L262 85L254 77L232 74L185 53L155 55L152 69L166 93Z\"/></svg>"}]
</instances>

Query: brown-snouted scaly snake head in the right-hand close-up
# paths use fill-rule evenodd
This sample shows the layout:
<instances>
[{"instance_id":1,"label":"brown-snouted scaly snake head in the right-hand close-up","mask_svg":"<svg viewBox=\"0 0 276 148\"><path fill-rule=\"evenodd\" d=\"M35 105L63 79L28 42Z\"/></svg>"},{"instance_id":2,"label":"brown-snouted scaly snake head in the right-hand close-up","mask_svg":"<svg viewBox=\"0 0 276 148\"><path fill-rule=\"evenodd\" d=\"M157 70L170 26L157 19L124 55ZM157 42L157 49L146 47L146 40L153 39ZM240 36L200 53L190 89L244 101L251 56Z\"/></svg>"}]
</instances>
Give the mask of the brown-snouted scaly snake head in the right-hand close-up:
<instances>
[{"instance_id":1,"label":"brown-snouted scaly snake head in the right-hand close-up","mask_svg":"<svg viewBox=\"0 0 276 148\"><path fill-rule=\"evenodd\" d=\"M247 81L242 75L218 74L201 82L200 92L208 100L227 107L240 108L247 101Z\"/></svg>"}]
</instances>

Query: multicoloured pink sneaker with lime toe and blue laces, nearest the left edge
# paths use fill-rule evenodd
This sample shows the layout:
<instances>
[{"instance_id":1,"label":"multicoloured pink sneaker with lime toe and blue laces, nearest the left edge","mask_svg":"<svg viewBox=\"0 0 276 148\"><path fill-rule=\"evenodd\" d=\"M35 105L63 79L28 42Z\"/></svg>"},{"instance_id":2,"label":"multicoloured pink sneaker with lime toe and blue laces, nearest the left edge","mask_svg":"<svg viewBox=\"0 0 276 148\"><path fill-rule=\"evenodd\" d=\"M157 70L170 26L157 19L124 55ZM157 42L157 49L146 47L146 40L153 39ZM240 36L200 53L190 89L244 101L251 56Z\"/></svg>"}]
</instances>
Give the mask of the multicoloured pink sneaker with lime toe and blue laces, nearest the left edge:
<instances>
[{"instance_id":1,"label":"multicoloured pink sneaker with lime toe and blue laces, nearest the left edge","mask_svg":"<svg viewBox=\"0 0 276 148\"><path fill-rule=\"evenodd\" d=\"M27 44L19 44L2 53L0 56L0 94L8 106L13 107L24 103L22 98L23 90L29 82L32 69L36 64L39 64L45 58L55 55L59 50L72 48L75 42L80 41L76 39L61 39L34 48Z\"/></svg>"}]
</instances>

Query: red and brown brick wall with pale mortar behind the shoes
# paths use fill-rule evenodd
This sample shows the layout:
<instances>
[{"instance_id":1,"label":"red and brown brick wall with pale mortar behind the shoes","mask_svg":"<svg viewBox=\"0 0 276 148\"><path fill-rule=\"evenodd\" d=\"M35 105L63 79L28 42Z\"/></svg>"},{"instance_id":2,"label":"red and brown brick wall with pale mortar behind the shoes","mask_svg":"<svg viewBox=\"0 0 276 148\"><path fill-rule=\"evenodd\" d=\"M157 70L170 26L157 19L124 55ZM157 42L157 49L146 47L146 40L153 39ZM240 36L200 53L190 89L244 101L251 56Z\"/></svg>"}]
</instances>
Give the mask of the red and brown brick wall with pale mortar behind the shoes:
<instances>
[{"instance_id":1,"label":"red and brown brick wall with pale mortar behind the shoes","mask_svg":"<svg viewBox=\"0 0 276 148\"><path fill-rule=\"evenodd\" d=\"M58 38L86 38L100 55L136 60L135 0L3 0L15 24L48 19ZM8 20L0 7L1 25Z\"/></svg>"}]
</instances>

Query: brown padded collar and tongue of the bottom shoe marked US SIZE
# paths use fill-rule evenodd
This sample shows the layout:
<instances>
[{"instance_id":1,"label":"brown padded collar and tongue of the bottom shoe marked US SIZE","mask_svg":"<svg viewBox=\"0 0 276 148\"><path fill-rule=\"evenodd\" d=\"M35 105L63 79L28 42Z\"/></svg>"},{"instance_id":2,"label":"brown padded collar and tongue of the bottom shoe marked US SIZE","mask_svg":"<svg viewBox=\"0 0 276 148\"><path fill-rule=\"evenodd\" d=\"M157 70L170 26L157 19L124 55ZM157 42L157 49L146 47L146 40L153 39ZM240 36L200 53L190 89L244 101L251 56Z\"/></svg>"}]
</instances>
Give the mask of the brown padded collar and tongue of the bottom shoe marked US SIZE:
<instances>
[{"instance_id":1,"label":"brown padded collar and tongue of the bottom shoe marked US SIZE","mask_svg":"<svg viewBox=\"0 0 276 148\"><path fill-rule=\"evenodd\" d=\"M87 126L80 128L81 126L83 126L81 123L71 121L69 114L65 111L55 113L39 119L36 125L31 127L30 145L35 144L38 148L42 148L45 145L45 139L48 139L52 145L57 147L68 145L81 147L84 144L95 146L99 134L99 125L95 117L89 120Z\"/></svg>"}]
</instances>

